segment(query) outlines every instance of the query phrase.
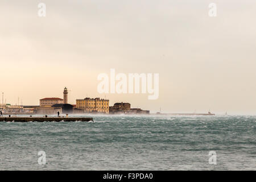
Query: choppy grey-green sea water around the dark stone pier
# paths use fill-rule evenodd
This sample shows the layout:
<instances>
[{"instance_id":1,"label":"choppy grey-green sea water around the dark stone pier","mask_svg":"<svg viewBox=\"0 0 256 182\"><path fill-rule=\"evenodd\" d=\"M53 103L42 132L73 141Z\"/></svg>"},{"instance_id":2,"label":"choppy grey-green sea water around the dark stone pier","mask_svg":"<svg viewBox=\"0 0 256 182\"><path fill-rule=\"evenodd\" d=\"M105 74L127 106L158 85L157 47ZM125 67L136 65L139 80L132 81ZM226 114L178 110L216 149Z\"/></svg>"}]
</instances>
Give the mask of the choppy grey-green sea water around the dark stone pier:
<instances>
[{"instance_id":1,"label":"choppy grey-green sea water around the dark stone pier","mask_svg":"<svg viewBox=\"0 0 256 182\"><path fill-rule=\"evenodd\" d=\"M255 116L90 117L94 123L0 122L0 169L256 170Z\"/></svg>"}]
</instances>

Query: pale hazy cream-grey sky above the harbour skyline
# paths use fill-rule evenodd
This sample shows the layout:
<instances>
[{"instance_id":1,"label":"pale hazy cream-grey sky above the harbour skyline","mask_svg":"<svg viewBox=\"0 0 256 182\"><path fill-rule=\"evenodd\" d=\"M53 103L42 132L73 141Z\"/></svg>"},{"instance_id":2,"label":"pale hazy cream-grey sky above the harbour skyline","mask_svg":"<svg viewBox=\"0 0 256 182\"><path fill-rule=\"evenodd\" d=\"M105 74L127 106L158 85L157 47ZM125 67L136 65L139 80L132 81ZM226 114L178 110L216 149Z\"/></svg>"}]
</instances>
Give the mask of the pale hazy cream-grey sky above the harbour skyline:
<instances>
[{"instance_id":1,"label":"pale hazy cream-grey sky above the harbour skyline","mask_svg":"<svg viewBox=\"0 0 256 182\"><path fill-rule=\"evenodd\" d=\"M46 3L46 17L38 4ZM208 15L217 4L217 17ZM0 1L0 92L39 105L105 97L97 76L159 73L159 99L106 94L152 112L256 114L256 1ZM1 102L2 102L2 97Z\"/></svg>"}]
</instances>

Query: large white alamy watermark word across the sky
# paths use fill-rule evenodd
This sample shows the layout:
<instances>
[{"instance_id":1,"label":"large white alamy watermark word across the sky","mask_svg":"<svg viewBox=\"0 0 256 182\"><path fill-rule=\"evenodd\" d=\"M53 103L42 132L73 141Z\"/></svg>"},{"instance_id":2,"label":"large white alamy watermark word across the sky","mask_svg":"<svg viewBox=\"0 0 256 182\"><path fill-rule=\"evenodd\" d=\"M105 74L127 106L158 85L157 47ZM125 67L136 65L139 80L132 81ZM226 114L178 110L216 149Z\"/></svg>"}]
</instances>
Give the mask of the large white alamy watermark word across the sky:
<instances>
[{"instance_id":1,"label":"large white alamy watermark word across the sky","mask_svg":"<svg viewBox=\"0 0 256 182\"><path fill-rule=\"evenodd\" d=\"M97 86L98 93L143 93L151 94L148 100L156 100L159 97L159 73L118 73L110 69L110 75L100 73L97 80L101 81ZM154 80L154 84L153 84Z\"/></svg>"}]
</instances>

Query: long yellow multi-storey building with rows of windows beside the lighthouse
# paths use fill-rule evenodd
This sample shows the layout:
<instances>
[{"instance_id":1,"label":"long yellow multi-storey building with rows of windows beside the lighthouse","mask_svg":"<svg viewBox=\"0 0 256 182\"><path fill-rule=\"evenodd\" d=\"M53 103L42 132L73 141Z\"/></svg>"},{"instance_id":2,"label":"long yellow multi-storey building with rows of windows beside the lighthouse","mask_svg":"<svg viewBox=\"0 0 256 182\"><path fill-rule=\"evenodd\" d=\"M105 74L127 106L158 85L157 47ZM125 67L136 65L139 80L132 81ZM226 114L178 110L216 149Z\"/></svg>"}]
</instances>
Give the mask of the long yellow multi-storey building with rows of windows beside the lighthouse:
<instances>
[{"instance_id":1,"label":"long yellow multi-storey building with rows of windows beside the lighthouse","mask_svg":"<svg viewBox=\"0 0 256 182\"><path fill-rule=\"evenodd\" d=\"M83 109L86 113L106 113L109 114L109 100L100 98L85 98L76 100L76 108Z\"/></svg>"}]
</instances>

